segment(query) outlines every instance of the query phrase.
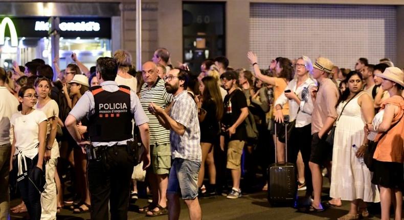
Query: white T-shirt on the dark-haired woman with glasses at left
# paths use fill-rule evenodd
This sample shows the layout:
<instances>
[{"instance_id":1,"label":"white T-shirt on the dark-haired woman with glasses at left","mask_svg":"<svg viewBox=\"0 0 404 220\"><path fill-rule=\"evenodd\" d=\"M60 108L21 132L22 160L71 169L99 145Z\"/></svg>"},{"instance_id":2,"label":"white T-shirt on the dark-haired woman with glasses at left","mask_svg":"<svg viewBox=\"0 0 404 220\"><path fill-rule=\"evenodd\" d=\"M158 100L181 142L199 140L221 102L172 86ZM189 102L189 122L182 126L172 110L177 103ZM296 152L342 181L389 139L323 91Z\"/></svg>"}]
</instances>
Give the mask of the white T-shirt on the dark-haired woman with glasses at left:
<instances>
[{"instance_id":1,"label":"white T-shirt on the dark-haired woman with glasses at left","mask_svg":"<svg viewBox=\"0 0 404 220\"><path fill-rule=\"evenodd\" d=\"M47 116L36 109L28 115L17 112L11 116L10 121L14 128L15 147L24 156L33 159L38 154L39 124L46 120L48 120Z\"/></svg>"}]
</instances>

